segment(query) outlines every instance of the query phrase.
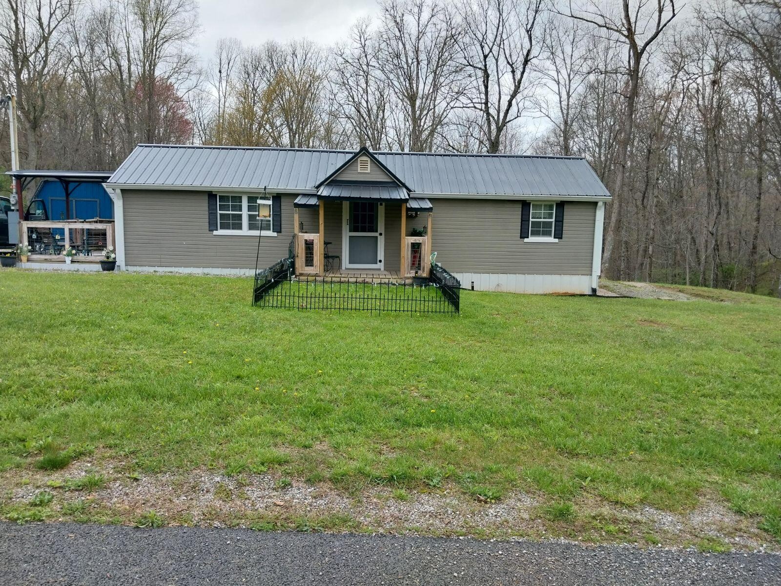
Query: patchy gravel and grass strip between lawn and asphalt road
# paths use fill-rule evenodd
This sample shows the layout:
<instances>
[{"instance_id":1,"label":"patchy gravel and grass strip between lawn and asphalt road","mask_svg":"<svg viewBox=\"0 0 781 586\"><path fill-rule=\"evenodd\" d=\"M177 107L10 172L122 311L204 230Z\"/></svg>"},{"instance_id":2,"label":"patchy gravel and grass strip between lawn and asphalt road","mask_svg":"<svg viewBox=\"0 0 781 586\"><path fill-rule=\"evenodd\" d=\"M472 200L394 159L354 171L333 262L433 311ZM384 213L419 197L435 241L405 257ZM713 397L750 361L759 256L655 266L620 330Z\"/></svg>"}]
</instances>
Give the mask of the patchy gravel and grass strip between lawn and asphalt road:
<instances>
[{"instance_id":1,"label":"patchy gravel and grass strip between lawn and asphalt road","mask_svg":"<svg viewBox=\"0 0 781 586\"><path fill-rule=\"evenodd\" d=\"M274 473L227 476L213 470L148 474L128 470L123 462L91 459L53 472L9 470L0 477L0 516L20 522L133 525L149 520L154 511L159 524L198 527L569 538L667 546L707 541L725 549L779 549L754 520L706 498L689 513L579 498L572 503L572 513L562 517L551 513L555 508L544 495L522 491L485 502L448 485L430 491L383 485L347 492L329 482L310 484ZM87 488L87 476L102 481Z\"/></svg>"}]
</instances>

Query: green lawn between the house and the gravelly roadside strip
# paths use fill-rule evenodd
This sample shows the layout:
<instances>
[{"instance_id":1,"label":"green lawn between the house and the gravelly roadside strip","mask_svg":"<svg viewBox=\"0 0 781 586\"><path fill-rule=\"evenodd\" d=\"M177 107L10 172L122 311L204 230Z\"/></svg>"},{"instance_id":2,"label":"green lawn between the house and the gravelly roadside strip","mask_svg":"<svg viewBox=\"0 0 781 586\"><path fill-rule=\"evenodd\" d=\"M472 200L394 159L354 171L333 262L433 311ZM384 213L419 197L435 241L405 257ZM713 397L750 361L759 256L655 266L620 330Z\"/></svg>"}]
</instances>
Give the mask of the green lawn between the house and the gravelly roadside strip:
<instances>
[{"instance_id":1,"label":"green lawn between the house and the gravelly roadside strip","mask_svg":"<svg viewBox=\"0 0 781 586\"><path fill-rule=\"evenodd\" d=\"M781 538L779 300L465 291L460 316L378 316L253 308L251 287L0 271L0 470L97 448L348 490L724 498Z\"/></svg>"}]
</instances>

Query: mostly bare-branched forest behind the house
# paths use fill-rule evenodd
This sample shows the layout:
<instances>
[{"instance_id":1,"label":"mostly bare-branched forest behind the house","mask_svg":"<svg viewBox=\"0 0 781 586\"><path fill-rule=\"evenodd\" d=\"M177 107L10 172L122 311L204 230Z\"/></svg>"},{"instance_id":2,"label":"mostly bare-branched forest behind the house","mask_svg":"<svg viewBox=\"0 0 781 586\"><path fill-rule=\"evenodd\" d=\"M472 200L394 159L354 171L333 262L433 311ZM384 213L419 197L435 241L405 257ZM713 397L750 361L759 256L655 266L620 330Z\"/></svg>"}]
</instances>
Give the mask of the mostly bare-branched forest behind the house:
<instances>
[{"instance_id":1,"label":"mostly bare-branched forest behind the house","mask_svg":"<svg viewBox=\"0 0 781 586\"><path fill-rule=\"evenodd\" d=\"M584 156L603 275L781 296L781 0L380 0L333 46L219 41L194 0L2 0L23 168L137 143ZM9 166L5 114L0 164Z\"/></svg>"}]
</instances>

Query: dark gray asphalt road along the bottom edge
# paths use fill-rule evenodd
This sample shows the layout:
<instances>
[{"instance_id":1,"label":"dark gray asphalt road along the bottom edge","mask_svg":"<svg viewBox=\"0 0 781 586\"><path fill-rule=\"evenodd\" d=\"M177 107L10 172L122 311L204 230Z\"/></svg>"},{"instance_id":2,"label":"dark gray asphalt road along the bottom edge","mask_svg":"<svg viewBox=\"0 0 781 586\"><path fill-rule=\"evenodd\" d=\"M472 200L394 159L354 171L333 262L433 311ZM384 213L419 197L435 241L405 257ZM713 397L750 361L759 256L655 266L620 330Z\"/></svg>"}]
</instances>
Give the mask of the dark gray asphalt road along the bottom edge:
<instances>
[{"instance_id":1,"label":"dark gray asphalt road along the bottom edge","mask_svg":"<svg viewBox=\"0 0 781 586\"><path fill-rule=\"evenodd\" d=\"M0 523L0 584L781 584L781 556Z\"/></svg>"}]
</instances>

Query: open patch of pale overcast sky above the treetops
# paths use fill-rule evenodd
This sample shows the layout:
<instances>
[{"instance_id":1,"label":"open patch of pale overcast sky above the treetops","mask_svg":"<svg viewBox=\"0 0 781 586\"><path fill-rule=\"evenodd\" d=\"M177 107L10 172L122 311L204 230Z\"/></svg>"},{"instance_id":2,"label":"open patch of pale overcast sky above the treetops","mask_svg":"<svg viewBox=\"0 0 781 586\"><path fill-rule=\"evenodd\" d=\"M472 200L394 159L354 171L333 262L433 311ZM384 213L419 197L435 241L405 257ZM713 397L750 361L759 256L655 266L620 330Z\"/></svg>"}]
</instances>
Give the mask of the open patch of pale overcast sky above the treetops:
<instances>
[{"instance_id":1,"label":"open patch of pale overcast sky above the treetops","mask_svg":"<svg viewBox=\"0 0 781 586\"><path fill-rule=\"evenodd\" d=\"M325 44L345 37L351 24L377 12L376 0L200 0L198 52L209 59L220 38L245 45L305 37Z\"/></svg>"}]
</instances>

